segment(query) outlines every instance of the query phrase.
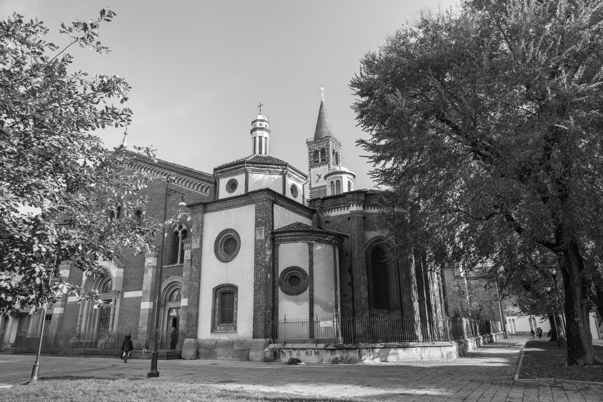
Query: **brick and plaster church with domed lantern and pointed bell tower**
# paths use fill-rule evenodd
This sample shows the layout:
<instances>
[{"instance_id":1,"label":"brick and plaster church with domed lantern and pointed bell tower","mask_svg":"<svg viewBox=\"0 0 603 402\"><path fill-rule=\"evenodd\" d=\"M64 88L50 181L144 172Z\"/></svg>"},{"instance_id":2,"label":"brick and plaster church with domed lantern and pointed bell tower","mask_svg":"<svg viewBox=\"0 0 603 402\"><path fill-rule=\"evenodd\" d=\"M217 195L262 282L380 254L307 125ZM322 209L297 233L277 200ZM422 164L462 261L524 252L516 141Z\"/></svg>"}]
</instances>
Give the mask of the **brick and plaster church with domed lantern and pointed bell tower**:
<instances>
[{"instance_id":1,"label":"brick and plaster church with domed lantern and pointed bell tower","mask_svg":"<svg viewBox=\"0 0 603 402\"><path fill-rule=\"evenodd\" d=\"M166 229L163 252L124 253L96 278L65 262L61 274L99 289L109 308L65 297L45 317L24 311L1 321L5 344L35 335L45 320L55 338L130 333L135 348L151 349L156 308L159 333L177 333L170 347L185 359L264 361L275 358L274 345L435 339L447 319L440 265L395 258L382 224L387 206L379 191L355 190L324 99L307 167L271 156L270 133L260 111L251 154L212 173L137 160L134 169L169 187L154 181L153 202L134 214L162 217L169 196L166 215L174 216L180 207L168 188L187 203L186 218Z\"/></svg>"}]
</instances>

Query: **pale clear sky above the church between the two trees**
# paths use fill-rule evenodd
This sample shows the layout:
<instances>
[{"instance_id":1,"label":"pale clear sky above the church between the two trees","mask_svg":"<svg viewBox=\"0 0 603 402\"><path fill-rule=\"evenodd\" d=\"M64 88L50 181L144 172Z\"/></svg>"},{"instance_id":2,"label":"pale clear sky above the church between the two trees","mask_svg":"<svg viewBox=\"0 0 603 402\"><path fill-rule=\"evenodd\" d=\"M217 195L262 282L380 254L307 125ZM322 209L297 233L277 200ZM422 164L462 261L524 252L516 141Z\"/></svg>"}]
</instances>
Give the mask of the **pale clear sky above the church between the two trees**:
<instances>
[{"instance_id":1,"label":"pale clear sky above the church between the two trees","mask_svg":"<svg viewBox=\"0 0 603 402\"><path fill-rule=\"evenodd\" d=\"M157 158L213 173L213 167L251 155L251 120L270 121L270 155L308 172L306 139L314 136L321 91L341 164L356 173L355 188L374 188L368 134L356 126L350 80L360 60L421 10L456 0L154 1L2 0L13 11L45 22L58 46L60 23L117 14L99 29L109 54L70 48L74 68L119 75L131 85L128 146L152 146ZM107 147L124 129L96 131Z\"/></svg>"}]
</instances>

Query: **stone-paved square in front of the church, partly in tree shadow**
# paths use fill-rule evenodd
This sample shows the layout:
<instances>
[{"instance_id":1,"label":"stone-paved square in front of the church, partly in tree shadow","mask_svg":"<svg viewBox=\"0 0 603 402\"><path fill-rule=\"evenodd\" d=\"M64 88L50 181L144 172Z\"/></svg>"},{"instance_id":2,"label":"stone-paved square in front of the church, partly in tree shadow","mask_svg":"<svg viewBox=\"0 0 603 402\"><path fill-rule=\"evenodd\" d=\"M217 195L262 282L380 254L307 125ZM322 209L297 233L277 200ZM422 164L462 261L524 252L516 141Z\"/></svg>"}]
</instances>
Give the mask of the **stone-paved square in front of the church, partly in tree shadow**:
<instances>
[{"instance_id":1,"label":"stone-paved square in front of the church, partly in tree shadow","mask_svg":"<svg viewBox=\"0 0 603 402\"><path fill-rule=\"evenodd\" d=\"M528 338L504 339L456 360L377 365L285 365L224 360L149 360L117 357L40 357L40 380L97 377L197 383L221 388L280 390L299 395L387 401L603 401L603 385L514 381ZM0 355L0 387L29 379L35 356ZM2 399L0 389L0 400Z\"/></svg>"}]
</instances>

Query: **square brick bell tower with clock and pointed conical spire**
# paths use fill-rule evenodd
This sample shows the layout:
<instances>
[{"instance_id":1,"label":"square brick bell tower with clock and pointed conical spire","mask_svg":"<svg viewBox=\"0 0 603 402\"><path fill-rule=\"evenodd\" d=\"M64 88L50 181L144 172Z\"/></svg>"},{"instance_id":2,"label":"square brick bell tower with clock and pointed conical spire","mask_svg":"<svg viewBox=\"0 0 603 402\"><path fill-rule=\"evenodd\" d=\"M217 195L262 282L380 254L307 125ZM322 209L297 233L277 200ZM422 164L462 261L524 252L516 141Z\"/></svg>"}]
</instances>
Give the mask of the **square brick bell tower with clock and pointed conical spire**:
<instances>
[{"instance_id":1,"label":"square brick bell tower with clock and pointed conical spire","mask_svg":"<svg viewBox=\"0 0 603 402\"><path fill-rule=\"evenodd\" d=\"M308 147L308 184L310 198L327 196L327 182L324 176L333 167L341 164L341 143L333 135L323 96L318 109L318 120L314 137L306 140Z\"/></svg>"}]
</instances>

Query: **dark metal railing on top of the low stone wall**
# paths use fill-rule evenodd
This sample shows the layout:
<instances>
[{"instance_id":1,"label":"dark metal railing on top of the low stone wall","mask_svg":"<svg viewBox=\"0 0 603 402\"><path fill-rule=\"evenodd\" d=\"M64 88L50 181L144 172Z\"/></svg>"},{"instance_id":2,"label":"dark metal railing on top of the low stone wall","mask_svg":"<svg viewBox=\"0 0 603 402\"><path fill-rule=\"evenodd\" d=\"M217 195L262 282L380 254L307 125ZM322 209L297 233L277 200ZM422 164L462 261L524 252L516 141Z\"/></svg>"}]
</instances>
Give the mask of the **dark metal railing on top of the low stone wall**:
<instances>
[{"instance_id":1,"label":"dark metal railing on top of the low stone wall","mask_svg":"<svg viewBox=\"0 0 603 402\"><path fill-rule=\"evenodd\" d=\"M408 320L401 317L283 318L273 321L274 343L452 341L500 331L499 321Z\"/></svg>"}]
</instances>

